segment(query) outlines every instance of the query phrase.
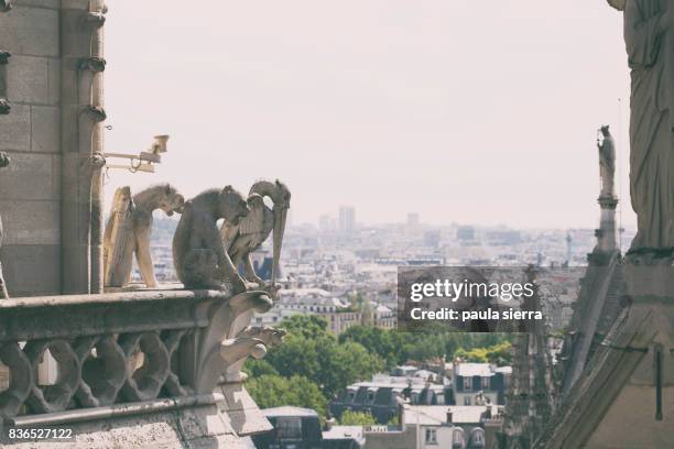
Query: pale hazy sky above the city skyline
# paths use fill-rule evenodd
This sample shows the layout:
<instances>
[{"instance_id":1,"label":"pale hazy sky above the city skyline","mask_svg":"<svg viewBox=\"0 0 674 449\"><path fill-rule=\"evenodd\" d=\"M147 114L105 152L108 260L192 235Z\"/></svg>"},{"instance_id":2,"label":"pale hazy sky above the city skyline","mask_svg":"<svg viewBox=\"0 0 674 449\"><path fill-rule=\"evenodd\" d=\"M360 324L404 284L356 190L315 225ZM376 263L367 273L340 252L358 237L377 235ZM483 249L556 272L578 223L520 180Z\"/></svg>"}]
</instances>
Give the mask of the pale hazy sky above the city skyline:
<instances>
[{"instance_id":1,"label":"pale hazy sky above the city skyline","mask_svg":"<svg viewBox=\"0 0 674 449\"><path fill-rule=\"evenodd\" d=\"M279 177L294 222L352 205L366 222L594 228L610 123L634 221L622 18L604 0L108 4L106 149L171 134L156 174L110 172L108 198Z\"/></svg>"}]
</instances>

